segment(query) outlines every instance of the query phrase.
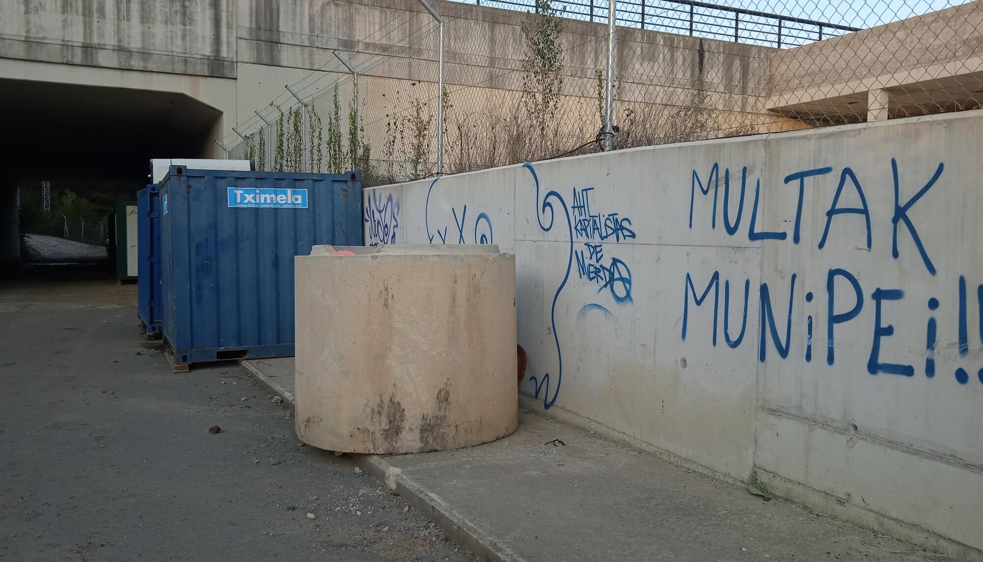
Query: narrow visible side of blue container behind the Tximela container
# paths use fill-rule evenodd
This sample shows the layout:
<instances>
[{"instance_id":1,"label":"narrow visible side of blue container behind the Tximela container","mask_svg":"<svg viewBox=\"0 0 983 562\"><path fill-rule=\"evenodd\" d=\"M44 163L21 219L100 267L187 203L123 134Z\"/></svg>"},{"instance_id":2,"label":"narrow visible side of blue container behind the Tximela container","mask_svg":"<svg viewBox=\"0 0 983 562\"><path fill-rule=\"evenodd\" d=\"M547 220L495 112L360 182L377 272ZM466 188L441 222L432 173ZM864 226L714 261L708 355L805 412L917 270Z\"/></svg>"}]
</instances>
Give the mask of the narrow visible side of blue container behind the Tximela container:
<instances>
[{"instance_id":1,"label":"narrow visible side of blue container behind the Tximela container","mask_svg":"<svg viewBox=\"0 0 983 562\"><path fill-rule=\"evenodd\" d=\"M137 193L139 244L137 313L147 335L160 333L160 189L150 184Z\"/></svg>"}]
</instances>

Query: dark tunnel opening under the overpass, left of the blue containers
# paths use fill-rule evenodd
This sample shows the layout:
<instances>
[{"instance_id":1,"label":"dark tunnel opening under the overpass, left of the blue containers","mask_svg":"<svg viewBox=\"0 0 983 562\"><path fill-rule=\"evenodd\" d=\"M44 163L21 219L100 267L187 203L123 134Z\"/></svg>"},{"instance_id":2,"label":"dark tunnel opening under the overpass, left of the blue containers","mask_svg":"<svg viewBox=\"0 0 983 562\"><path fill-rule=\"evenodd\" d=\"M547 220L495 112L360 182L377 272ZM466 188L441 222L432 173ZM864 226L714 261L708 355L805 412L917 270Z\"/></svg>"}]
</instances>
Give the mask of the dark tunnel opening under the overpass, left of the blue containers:
<instances>
[{"instance_id":1,"label":"dark tunnel opening under the overpass, left of the blue containers","mask_svg":"<svg viewBox=\"0 0 983 562\"><path fill-rule=\"evenodd\" d=\"M0 79L0 107L7 271L26 263L108 266L115 202L145 187L150 158L209 156L222 116L178 92L9 79Z\"/></svg>"}]
</instances>

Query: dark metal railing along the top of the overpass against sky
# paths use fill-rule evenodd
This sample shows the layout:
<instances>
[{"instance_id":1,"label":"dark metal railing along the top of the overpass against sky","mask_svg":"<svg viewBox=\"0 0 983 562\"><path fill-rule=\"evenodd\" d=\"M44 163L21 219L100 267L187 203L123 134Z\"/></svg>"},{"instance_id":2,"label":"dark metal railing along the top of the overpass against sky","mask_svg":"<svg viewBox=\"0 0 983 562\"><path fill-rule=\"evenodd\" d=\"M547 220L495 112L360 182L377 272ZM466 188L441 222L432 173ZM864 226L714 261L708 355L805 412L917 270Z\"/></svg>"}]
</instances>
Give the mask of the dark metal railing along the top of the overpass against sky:
<instances>
[{"instance_id":1,"label":"dark metal railing along the top of the overpass against sky","mask_svg":"<svg viewBox=\"0 0 983 562\"><path fill-rule=\"evenodd\" d=\"M459 1L523 12L536 11L535 0ZM563 2L558 12L564 18L603 23L607 22L607 0ZM779 48L822 41L858 30L829 22L687 0L618 0L616 12L618 26Z\"/></svg>"}]
</instances>

